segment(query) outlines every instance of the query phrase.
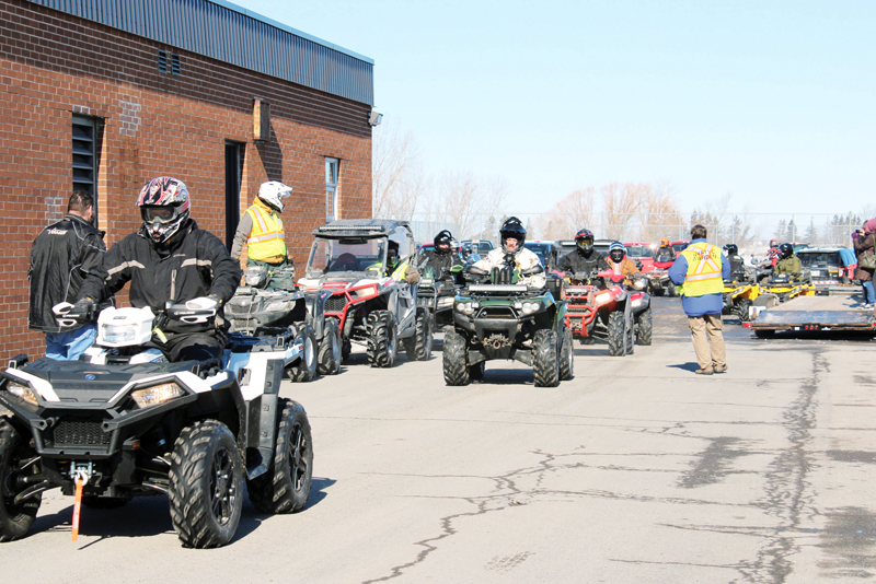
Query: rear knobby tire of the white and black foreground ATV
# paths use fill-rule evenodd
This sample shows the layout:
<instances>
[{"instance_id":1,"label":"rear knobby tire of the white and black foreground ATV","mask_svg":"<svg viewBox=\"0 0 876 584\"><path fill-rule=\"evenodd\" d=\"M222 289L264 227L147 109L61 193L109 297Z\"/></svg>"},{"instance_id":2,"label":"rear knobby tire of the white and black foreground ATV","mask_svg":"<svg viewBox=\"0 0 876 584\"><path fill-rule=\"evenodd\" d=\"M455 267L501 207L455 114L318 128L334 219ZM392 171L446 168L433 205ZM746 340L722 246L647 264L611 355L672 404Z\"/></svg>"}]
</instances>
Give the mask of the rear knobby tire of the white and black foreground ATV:
<instances>
[{"instance_id":1,"label":"rear knobby tire of the white and black foreground ATV","mask_svg":"<svg viewBox=\"0 0 876 584\"><path fill-rule=\"evenodd\" d=\"M246 482L250 501L260 513L295 513L308 502L313 479L310 422L300 404L280 399L277 445L270 468Z\"/></svg>"}]
</instances>

